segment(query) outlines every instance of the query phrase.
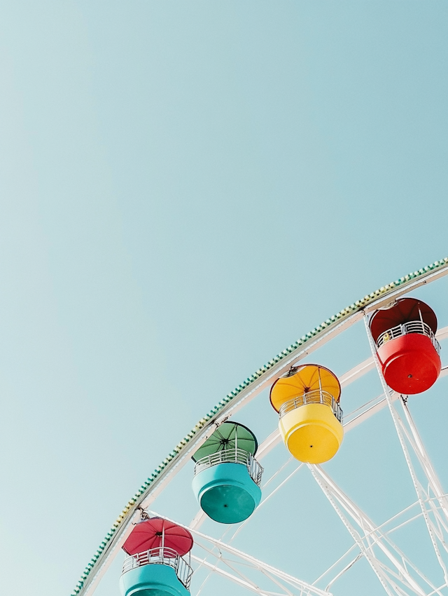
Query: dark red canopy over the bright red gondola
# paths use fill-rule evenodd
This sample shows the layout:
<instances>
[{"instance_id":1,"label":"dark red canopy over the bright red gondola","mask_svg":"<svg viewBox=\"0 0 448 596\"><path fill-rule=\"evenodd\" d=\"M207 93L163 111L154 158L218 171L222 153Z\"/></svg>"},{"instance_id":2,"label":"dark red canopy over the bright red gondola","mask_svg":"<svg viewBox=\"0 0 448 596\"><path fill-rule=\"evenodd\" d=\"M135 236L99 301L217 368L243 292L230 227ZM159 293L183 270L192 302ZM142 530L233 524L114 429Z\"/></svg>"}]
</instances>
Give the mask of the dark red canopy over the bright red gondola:
<instances>
[{"instance_id":1,"label":"dark red canopy over the bright red gondola","mask_svg":"<svg viewBox=\"0 0 448 596\"><path fill-rule=\"evenodd\" d=\"M423 320L435 333L437 331L437 317L433 309L416 298L399 298L390 309L379 309L370 319L370 331L374 341L381 333L412 320Z\"/></svg>"}]
</instances>

